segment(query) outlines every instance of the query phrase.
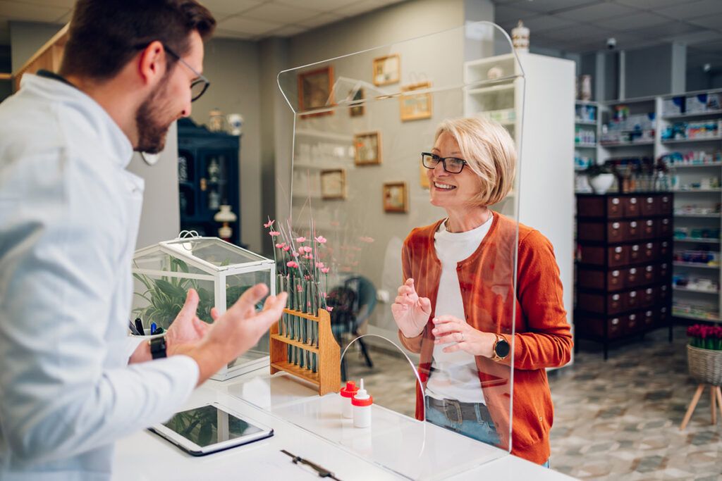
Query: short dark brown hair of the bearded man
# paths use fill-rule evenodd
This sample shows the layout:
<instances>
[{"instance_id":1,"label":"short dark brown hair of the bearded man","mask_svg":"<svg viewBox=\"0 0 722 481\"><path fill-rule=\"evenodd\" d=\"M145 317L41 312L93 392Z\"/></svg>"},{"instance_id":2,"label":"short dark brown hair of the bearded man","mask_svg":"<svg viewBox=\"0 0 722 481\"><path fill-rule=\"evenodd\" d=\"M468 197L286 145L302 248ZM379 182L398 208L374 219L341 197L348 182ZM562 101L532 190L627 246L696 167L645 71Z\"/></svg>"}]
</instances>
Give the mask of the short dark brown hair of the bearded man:
<instances>
[{"instance_id":1,"label":"short dark brown hair of the bearded man","mask_svg":"<svg viewBox=\"0 0 722 481\"><path fill-rule=\"evenodd\" d=\"M110 79L149 43L158 40L182 57L193 30L206 40L215 26L195 0L78 0L60 73Z\"/></svg>"}]
</instances>

